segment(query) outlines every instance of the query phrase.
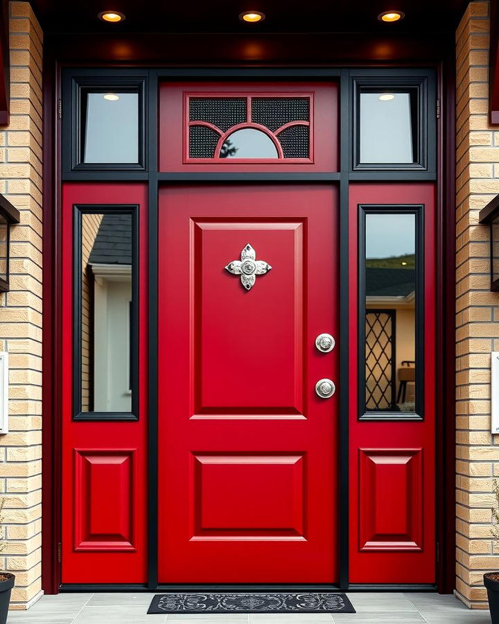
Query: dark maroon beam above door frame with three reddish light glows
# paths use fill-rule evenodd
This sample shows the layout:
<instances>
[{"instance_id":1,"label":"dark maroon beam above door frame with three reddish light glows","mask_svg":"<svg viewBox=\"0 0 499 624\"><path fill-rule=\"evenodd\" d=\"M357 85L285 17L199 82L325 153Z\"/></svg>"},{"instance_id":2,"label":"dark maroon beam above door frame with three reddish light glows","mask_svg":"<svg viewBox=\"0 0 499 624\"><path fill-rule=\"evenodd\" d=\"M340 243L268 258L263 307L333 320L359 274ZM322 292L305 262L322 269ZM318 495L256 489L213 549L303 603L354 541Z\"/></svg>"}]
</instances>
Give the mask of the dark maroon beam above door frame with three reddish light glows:
<instances>
[{"instance_id":1,"label":"dark maroon beam above door frame with three reddish light glows","mask_svg":"<svg viewBox=\"0 0 499 624\"><path fill-rule=\"evenodd\" d=\"M152 64L222 67L289 64L295 67L342 64L435 63L453 49L453 33L441 33L421 46L421 34L351 35L348 33L286 33L217 35L123 33L48 34L45 44L64 64Z\"/></svg>"}]
</instances>

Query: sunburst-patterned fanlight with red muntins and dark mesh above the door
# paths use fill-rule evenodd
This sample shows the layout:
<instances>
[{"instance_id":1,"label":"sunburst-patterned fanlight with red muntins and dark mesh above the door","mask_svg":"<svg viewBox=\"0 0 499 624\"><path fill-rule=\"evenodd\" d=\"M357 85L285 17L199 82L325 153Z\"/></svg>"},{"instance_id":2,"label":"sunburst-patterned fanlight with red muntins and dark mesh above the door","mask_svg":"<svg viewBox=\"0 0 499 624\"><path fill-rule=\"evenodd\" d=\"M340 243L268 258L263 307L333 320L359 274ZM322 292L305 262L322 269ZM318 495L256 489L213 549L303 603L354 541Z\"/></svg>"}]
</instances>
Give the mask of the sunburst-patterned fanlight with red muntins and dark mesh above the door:
<instances>
[{"instance_id":1,"label":"sunburst-patterned fanlight with red muntins and dark mesh above the door","mask_svg":"<svg viewBox=\"0 0 499 624\"><path fill-rule=\"evenodd\" d=\"M188 96L189 159L310 162L312 96Z\"/></svg>"}]
</instances>

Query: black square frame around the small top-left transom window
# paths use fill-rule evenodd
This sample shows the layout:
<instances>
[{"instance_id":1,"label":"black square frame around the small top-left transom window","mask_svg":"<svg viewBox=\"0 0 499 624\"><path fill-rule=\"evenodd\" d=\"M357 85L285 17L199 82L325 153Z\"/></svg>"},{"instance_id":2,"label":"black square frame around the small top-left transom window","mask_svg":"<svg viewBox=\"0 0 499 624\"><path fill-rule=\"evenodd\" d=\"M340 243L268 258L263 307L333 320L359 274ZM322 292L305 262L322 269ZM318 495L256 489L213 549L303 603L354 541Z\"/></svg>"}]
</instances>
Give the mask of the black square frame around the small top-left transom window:
<instances>
[{"instance_id":1,"label":"black square frame around the small top-left transom window","mask_svg":"<svg viewBox=\"0 0 499 624\"><path fill-rule=\"evenodd\" d=\"M62 141L62 179L73 174L71 179L88 180L88 175L96 173L121 173L130 180L133 173L147 171L148 145L146 128L148 128L147 87L148 72L134 69L72 69L62 72L62 135L67 137ZM121 89L137 92L139 96L139 162L138 163L84 163L82 162L82 126L83 107L82 96L88 92L106 92ZM74 177L75 173L82 173ZM103 179L103 178L99 178ZM146 179L146 177L142 178Z\"/></svg>"}]
</instances>

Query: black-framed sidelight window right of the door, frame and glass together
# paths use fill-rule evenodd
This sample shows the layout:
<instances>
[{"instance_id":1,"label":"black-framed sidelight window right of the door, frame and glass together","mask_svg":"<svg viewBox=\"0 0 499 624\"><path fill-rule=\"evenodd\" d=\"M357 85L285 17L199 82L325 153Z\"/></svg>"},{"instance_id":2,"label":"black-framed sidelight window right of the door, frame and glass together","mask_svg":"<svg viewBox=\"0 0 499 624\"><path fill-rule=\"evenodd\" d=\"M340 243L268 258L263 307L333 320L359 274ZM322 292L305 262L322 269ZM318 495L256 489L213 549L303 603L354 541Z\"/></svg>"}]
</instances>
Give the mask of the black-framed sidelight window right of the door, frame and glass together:
<instances>
[{"instance_id":1,"label":"black-framed sidelight window right of the door, frame and glass together","mask_svg":"<svg viewBox=\"0 0 499 624\"><path fill-rule=\"evenodd\" d=\"M360 207L360 410L421 417L421 207Z\"/></svg>"}]
</instances>

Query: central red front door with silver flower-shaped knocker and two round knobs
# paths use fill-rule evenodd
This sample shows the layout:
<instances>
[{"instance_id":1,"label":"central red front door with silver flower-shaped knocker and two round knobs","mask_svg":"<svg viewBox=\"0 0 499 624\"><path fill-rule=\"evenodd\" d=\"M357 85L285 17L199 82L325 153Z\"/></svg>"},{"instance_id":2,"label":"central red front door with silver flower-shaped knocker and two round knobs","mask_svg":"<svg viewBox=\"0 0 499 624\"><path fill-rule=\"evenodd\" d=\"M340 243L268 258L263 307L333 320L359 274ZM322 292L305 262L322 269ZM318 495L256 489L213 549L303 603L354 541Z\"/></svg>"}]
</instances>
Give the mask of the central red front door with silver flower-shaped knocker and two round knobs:
<instances>
[{"instance_id":1,"label":"central red front door with silver flower-shaped knocker and two round knobs","mask_svg":"<svg viewBox=\"0 0 499 624\"><path fill-rule=\"evenodd\" d=\"M338 581L337 216L319 185L160 191L161 583Z\"/></svg>"}]
</instances>

